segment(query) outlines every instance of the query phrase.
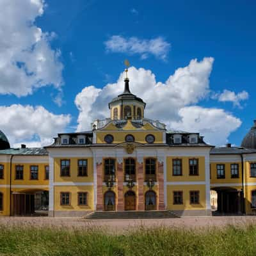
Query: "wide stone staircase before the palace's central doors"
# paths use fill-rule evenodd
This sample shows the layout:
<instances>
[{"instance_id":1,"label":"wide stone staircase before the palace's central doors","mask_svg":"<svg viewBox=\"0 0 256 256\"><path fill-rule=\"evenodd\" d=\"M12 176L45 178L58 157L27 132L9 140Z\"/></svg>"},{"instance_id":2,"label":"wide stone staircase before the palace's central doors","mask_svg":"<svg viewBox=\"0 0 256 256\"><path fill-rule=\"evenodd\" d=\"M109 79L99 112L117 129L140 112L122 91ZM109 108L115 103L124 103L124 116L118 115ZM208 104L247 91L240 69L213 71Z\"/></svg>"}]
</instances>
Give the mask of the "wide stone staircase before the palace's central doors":
<instances>
[{"instance_id":1,"label":"wide stone staircase before the palace's central doors","mask_svg":"<svg viewBox=\"0 0 256 256\"><path fill-rule=\"evenodd\" d=\"M106 219L169 219L180 218L171 211L95 211L84 217L86 220Z\"/></svg>"}]
</instances>

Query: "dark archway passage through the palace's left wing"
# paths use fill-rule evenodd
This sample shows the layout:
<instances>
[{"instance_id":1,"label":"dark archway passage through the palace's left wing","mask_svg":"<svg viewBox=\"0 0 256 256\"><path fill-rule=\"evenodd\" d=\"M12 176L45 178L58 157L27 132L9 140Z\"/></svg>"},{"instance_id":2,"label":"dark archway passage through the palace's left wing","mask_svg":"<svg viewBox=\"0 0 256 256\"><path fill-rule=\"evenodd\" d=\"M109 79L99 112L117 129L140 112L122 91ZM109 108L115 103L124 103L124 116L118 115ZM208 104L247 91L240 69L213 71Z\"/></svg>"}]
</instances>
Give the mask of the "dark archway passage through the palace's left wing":
<instances>
[{"instance_id":1,"label":"dark archway passage through the palace's left wing","mask_svg":"<svg viewBox=\"0 0 256 256\"><path fill-rule=\"evenodd\" d=\"M12 193L12 216L47 216L49 191L33 190Z\"/></svg>"}]
</instances>

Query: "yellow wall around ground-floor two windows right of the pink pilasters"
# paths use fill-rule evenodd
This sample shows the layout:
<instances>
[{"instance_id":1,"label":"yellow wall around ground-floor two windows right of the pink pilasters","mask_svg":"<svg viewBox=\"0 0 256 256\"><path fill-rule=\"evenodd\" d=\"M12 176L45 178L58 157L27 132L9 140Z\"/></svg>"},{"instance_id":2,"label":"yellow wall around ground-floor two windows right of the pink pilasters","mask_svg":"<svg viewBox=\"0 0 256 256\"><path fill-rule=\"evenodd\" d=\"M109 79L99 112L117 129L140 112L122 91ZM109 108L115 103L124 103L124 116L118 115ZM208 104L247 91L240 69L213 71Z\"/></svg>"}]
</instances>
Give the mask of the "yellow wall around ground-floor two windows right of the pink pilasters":
<instances>
[{"instance_id":1,"label":"yellow wall around ground-floor two windows right of the pink pilasters","mask_svg":"<svg viewBox=\"0 0 256 256\"><path fill-rule=\"evenodd\" d=\"M183 204L173 205L173 191L183 192ZM200 204L191 205L189 202L189 191L200 191L199 202ZM205 185L175 185L167 186L167 208L168 210L204 210L205 209Z\"/></svg>"}]
</instances>

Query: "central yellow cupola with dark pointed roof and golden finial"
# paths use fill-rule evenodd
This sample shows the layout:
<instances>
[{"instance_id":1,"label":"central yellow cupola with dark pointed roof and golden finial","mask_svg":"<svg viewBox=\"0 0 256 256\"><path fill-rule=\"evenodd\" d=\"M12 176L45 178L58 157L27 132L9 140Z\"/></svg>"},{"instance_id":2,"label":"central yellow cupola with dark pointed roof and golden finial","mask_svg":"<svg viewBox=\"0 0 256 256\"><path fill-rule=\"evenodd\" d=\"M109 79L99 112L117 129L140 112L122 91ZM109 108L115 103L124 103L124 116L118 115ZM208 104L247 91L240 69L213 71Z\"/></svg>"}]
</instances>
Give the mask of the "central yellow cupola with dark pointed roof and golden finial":
<instances>
[{"instance_id":1,"label":"central yellow cupola with dark pointed roof and golden finial","mask_svg":"<svg viewBox=\"0 0 256 256\"><path fill-rule=\"evenodd\" d=\"M110 115L112 120L142 119L146 103L136 95L132 94L129 88L128 69L125 69L124 92L109 102Z\"/></svg>"}]
</instances>

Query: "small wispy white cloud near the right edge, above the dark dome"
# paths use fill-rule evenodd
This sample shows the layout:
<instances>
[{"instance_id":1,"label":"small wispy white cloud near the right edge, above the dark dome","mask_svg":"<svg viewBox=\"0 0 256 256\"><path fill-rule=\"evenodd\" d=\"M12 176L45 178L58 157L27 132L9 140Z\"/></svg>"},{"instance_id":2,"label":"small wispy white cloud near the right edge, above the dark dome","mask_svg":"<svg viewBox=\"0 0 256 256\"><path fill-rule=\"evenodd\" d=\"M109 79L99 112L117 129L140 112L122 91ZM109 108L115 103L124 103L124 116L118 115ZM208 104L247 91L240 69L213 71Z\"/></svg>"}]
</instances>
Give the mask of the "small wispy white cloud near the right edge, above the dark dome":
<instances>
[{"instance_id":1,"label":"small wispy white cloud near the right edge, above the dark dome","mask_svg":"<svg viewBox=\"0 0 256 256\"><path fill-rule=\"evenodd\" d=\"M241 108L241 101L249 98L249 93L246 91L235 93L230 90L223 90L222 93L214 95L220 102L233 102L234 106Z\"/></svg>"}]
</instances>

